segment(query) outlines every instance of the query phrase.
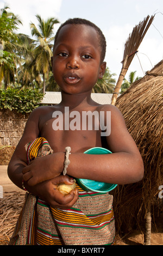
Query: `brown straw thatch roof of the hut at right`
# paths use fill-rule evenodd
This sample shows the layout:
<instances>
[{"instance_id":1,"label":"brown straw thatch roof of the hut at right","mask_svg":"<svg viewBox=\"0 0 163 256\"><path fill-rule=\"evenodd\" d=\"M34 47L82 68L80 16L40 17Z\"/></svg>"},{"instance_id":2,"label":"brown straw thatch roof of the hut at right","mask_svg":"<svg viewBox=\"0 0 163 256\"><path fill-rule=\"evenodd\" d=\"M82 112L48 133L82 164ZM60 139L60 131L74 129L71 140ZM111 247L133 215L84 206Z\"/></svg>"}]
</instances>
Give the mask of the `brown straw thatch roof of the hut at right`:
<instances>
[{"instance_id":1,"label":"brown straw thatch roof of the hut at right","mask_svg":"<svg viewBox=\"0 0 163 256\"><path fill-rule=\"evenodd\" d=\"M133 83L118 97L116 106L126 120L145 165L145 175L136 184L118 186L115 190L117 229L143 222L148 205L160 203L159 186L163 185L163 60L146 76ZM118 212L121 212L119 216ZM135 218L135 220L134 220Z\"/></svg>"}]
</instances>

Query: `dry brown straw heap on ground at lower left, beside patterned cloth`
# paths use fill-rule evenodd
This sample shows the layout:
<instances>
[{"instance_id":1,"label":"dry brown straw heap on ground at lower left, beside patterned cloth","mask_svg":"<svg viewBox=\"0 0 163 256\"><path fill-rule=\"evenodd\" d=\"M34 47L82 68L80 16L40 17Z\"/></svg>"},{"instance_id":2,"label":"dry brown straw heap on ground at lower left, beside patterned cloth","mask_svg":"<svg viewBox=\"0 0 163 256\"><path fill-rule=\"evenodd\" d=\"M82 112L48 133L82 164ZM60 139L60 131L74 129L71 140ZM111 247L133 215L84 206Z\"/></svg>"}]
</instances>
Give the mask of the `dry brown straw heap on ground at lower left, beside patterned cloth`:
<instances>
[{"instance_id":1,"label":"dry brown straw heap on ground at lower left, beside patterned cloth","mask_svg":"<svg viewBox=\"0 0 163 256\"><path fill-rule=\"evenodd\" d=\"M4 192L0 200L0 245L7 245L24 204L24 192Z\"/></svg>"}]
</instances>

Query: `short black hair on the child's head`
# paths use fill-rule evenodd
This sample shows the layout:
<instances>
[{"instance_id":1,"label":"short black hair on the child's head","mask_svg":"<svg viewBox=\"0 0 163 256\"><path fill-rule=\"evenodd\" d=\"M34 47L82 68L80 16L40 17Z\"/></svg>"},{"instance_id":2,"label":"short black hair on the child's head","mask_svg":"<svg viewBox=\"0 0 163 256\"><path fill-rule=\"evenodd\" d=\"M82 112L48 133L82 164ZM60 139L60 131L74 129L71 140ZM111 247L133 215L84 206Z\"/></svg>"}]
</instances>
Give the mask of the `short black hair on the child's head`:
<instances>
[{"instance_id":1,"label":"short black hair on the child's head","mask_svg":"<svg viewBox=\"0 0 163 256\"><path fill-rule=\"evenodd\" d=\"M57 33L55 34L54 47L55 47L55 44L57 42L58 34L60 32L60 29L62 27L64 27L65 25L87 25L87 26L90 26L92 28L95 28L95 30L98 34L98 37L99 37L99 46L101 47L101 62L104 61L105 53L106 53L106 39L105 39L105 36L103 35L103 33L102 33L102 31L99 27L97 27L91 21L88 21L88 20L85 20L85 19L73 18L73 19L68 19L67 21L62 23L61 26L59 27Z\"/></svg>"}]
</instances>

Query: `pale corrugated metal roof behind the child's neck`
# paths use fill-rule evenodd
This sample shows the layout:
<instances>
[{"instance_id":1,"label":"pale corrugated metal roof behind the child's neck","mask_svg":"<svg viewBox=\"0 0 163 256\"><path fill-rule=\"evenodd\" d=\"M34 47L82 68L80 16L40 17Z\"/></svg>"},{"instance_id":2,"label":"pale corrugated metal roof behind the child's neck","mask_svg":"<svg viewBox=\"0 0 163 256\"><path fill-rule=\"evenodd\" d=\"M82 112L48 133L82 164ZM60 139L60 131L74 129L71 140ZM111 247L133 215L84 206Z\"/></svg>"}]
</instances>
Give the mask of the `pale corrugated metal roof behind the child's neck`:
<instances>
[{"instance_id":1,"label":"pale corrugated metal roof behind the child's neck","mask_svg":"<svg viewBox=\"0 0 163 256\"><path fill-rule=\"evenodd\" d=\"M110 104L112 94L109 93L91 93L92 100L96 101L99 104ZM61 93L60 92L46 92L41 103L56 105L61 102Z\"/></svg>"}]
</instances>

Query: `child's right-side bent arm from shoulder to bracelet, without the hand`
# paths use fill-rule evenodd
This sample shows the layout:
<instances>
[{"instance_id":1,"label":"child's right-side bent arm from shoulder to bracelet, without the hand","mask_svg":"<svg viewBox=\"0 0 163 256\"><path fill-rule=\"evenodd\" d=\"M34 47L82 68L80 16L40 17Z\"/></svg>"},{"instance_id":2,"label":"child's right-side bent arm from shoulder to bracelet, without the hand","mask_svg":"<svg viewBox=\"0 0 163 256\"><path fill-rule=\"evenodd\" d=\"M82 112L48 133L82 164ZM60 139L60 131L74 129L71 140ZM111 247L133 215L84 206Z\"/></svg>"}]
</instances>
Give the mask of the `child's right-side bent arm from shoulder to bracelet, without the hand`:
<instances>
[{"instance_id":1,"label":"child's right-side bent arm from shoulder to bracelet, without the hand","mask_svg":"<svg viewBox=\"0 0 163 256\"><path fill-rule=\"evenodd\" d=\"M106 141L113 154L71 154L67 174L112 184L140 181L144 172L142 157L121 112L112 105L103 106L101 111L111 111L111 133Z\"/></svg>"}]
</instances>

